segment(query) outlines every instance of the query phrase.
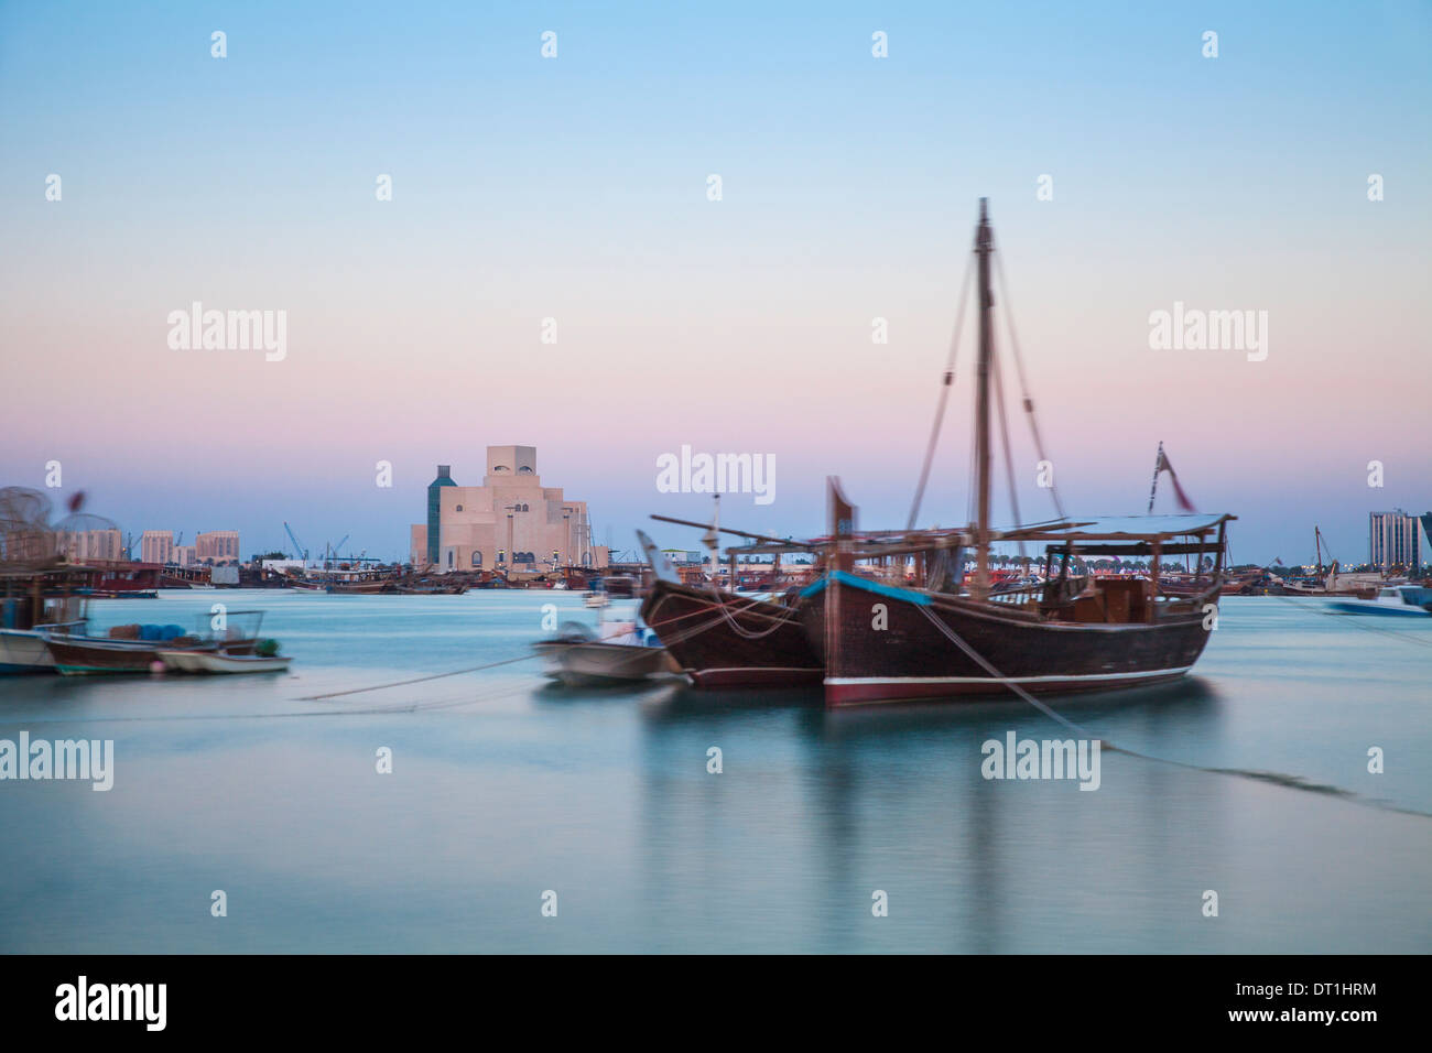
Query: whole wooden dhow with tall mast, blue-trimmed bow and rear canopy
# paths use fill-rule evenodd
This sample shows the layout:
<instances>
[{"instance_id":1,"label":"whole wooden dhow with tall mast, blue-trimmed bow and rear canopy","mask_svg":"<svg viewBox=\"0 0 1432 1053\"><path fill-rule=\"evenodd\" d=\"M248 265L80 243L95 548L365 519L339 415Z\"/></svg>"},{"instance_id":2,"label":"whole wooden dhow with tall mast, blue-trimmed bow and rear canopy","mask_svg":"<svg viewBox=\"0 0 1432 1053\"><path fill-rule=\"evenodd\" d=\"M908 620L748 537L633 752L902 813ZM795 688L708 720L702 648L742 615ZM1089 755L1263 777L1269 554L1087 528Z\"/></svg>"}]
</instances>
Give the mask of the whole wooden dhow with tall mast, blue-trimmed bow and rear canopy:
<instances>
[{"instance_id":1,"label":"whole wooden dhow with tall mast, blue-trimmed bow and rear canopy","mask_svg":"<svg viewBox=\"0 0 1432 1053\"><path fill-rule=\"evenodd\" d=\"M802 592L799 607L812 649L825 656L829 706L1011 689L1030 693L1157 683L1187 673L1217 623L1224 532L1233 516L1077 519L1061 513L1054 523L1010 530L991 527L991 387L998 387L1000 374L991 322L994 234L984 201L974 251L979 274L974 420L977 517L968 530L938 542L862 537L853 530L852 506L832 481L826 573ZM949 375L947 371L947 387ZM1032 418L1028 393L1024 404ZM997 408L1002 427L1002 405ZM1004 446L1008 460L1007 434ZM1160 467L1163 464L1160 448ZM991 546L997 542L1045 543L1042 583L994 592ZM959 580L965 549L972 549L975 557L969 582ZM925 587L905 586L904 573L896 583L855 573L859 560L882 566L895 560L902 566L911 556L919 557L918 566L934 569L934 573L919 574ZM935 556L939 559L931 559ZM1077 556L1144 557L1148 577L1073 576L1070 569ZM1203 587L1196 586L1184 596L1161 592L1158 574L1164 556L1197 556L1196 580ZM1050 567L1055 557L1060 560L1057 577ZM1214 566L1204 577L1206 557L1211 557ZM957 569L954 579L951 567Z\"/></svg>"}]
</instances>

